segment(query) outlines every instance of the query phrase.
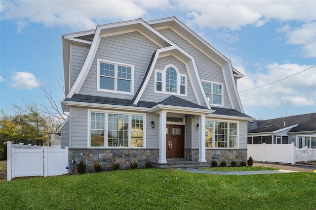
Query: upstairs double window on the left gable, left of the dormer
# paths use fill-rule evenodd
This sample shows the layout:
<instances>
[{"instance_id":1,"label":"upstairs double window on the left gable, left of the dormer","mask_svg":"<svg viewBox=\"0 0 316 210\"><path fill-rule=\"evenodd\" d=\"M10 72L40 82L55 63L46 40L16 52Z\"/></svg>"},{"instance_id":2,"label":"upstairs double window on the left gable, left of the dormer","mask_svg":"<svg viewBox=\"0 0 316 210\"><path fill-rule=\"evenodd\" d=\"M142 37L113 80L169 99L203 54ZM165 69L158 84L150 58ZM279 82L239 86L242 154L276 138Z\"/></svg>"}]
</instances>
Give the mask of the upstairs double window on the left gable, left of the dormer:
<instances>
[{"instance_id":1,"label":"upstairs double window on the left gable, left of the dormer","mask_svg":"<svg viewBox=\"0 0 316 210\"><path fill-rule=\"evenodd\" d=\"M133 65L98 59L98 91L133 94Z\"/></svg>"}]
</instances>

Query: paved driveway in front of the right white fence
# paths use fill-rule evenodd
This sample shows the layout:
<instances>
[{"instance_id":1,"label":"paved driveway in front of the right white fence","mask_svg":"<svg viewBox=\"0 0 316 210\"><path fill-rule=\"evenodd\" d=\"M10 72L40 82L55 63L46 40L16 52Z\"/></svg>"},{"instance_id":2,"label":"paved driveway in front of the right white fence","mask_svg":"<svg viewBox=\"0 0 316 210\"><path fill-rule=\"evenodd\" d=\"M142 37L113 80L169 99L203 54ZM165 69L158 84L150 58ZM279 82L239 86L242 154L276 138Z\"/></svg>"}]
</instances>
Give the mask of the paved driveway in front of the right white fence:
<instances>
[{"instance_id":1,"label":"paved driveway in front of the right white fence","mask_svg":"<svg viewBox=\"0 0 316 210\"><path fill-rule=\"evenodd\" d=\"M303 164L287 164L287 163L271 163L271 162L253 162L253 166L264 166L264 167L272 167L278 168L281 170L289 170L289 171L300 171L300 172L314 172L316 170L316 166L313 165L303 165Z\"/></svg>"}]
</instances>

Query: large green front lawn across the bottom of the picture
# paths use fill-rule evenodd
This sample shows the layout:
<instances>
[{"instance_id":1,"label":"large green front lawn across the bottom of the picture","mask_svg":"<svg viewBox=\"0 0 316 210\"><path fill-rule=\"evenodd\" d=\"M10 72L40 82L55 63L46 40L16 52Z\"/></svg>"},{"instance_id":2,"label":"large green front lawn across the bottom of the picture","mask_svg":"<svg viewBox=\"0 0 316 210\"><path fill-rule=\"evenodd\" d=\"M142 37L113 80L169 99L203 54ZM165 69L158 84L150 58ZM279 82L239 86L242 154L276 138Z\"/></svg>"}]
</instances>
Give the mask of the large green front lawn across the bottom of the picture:
<instances>
[{"instance_id":1,"label":"large green front lawn across the bottom of the picture","mask_svg":"<svg viewBox=\"0 0 316 210\"><path fill-rule=\"evenodd\" d=\"M315 209L316 173L135 169L0 182L0 209Z\"/></svg>"}]
</instances>

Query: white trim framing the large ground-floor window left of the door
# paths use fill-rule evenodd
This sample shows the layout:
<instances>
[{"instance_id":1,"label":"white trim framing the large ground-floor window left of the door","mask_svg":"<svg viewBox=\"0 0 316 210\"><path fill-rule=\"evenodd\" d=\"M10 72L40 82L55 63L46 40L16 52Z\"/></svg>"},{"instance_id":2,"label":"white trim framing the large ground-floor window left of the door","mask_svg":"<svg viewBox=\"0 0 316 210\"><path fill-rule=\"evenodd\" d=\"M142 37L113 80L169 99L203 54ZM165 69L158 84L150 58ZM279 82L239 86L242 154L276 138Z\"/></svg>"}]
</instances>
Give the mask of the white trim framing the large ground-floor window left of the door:
<instances>
[{"instance_id":1,"label":"white trim framing the large ground-floor window left of the door","mask_svg":"<svg viewBox=\"0 0 316 210\"><path fill-rule=\"evenodd\" d=\"M104 147L91 147L91 112L95 113L104 113ZM117 114L117 115L128 115L128 125L132 123L132 115L139 115L143 116L143 147L131 147L131 126L128 126L128 147L108 147L108 114ZM146 123L146 114L143 113L136 113L136 112L117 112L117 111L110 111L110 110L97 110L97 109L88 109L88 142L87 148L92 149L146 149L146 130L147 130L147 123Z\"/></svg>"}]
</instances>

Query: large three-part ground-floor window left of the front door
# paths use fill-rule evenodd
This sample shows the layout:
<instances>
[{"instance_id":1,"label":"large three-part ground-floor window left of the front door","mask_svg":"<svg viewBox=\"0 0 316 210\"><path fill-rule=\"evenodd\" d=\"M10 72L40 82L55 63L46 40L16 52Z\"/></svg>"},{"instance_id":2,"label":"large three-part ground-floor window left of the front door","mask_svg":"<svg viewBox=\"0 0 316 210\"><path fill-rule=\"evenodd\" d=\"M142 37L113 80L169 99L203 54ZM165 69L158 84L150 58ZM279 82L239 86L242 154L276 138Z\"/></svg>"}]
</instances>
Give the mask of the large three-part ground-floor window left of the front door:
<instances>
[{"instance_id":1,"label":"large three-part ground-floor window left of the front door","mask_svg":"<svg viewBox=\"0 0 316 210\"><path fill-rule=\"evenodd\" d=\"M90 148L144 148L145 115L89 112Z\"/></svg>"}]
</instances>

